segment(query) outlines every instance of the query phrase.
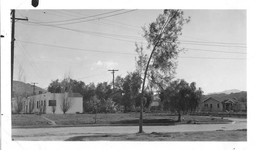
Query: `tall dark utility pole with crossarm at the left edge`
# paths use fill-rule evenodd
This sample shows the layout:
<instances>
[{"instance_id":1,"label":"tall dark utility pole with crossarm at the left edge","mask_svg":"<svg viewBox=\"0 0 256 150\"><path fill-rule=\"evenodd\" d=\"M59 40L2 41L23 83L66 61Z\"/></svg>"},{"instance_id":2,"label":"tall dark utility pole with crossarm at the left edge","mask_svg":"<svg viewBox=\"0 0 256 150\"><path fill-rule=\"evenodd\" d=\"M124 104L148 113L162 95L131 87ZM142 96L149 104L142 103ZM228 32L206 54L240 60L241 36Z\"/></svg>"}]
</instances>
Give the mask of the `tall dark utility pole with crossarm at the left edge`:
<instances>
[{"instance_id":1,"label":"tall dark utility pole with crossarm at the left edge","mask_svg":"<svg viewBox=\"0 0 256 150\"><path fill-rule=\"evenodd\" d=\"M15 20L27 20L24 18L15 18L15 9L11 10L12 19L12 38L11 38L11 97L12 97L12 83L13 83L13 60L14 60L14 30L15 30Z\"/></svg>"}]
</instances>

